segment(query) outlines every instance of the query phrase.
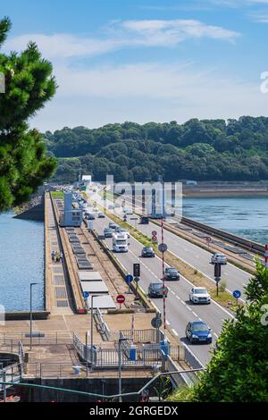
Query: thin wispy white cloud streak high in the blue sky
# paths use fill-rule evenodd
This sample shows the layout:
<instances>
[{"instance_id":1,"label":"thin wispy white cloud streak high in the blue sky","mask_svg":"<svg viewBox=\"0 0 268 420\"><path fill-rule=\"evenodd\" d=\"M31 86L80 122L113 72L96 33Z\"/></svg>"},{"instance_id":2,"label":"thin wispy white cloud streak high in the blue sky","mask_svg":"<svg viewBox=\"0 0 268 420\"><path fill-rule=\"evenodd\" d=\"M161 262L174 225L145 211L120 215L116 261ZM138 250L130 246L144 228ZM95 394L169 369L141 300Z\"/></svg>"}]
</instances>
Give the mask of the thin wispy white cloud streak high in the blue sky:
<instances>
[{"instance_id":1,"label":"thin wispy white cloud streak high in the blue sky","mask_svg":"<svg viewBox=\"0 0 268 420\"><path fill-rule=\"evenodd\" d=\"M49 59L69 59L103 55L132 46L177 46L186 39L212 38L232 41L239 33L201 21L115 21L108 27L106 38L85 38L70 34L26 34L8 40L5 51L21 50L29 40L37 42Z\"/></svg>"}]
</instances>

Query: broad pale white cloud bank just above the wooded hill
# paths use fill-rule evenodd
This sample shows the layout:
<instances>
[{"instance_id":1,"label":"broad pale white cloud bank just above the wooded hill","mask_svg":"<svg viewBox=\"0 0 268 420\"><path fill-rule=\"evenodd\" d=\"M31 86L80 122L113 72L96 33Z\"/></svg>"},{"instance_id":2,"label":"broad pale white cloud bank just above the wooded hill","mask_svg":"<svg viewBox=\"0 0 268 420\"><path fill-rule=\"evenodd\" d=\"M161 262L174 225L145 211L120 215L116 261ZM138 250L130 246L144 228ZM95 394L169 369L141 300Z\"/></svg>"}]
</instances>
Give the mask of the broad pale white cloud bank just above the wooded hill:
<instances>
[{"instance_id":1,"label":"broad pale white cloud bank just above the wooded hill","mask_svg":"<svg viewBox=\"0 0 268 420\"><path fill-rule=\"evenodd\" d=\"M61 66L55 72L59 91L32 120L41 130L268 113L261 80L244 83L222 78L216 71L197 71L191 64L137 63L80 71Z\"/></svg>"}]
</instances>

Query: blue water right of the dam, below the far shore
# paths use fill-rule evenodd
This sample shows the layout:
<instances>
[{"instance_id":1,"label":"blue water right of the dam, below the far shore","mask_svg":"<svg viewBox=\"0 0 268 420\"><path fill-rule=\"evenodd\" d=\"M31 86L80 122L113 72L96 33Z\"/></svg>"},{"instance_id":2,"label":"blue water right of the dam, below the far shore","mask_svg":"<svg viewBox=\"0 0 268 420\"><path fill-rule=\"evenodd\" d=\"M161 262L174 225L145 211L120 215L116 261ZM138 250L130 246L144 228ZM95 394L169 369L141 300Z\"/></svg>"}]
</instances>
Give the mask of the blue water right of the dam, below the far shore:
<instances>
[{"instance_id":1,"label":"blue water right of the dam, below the far shore","mask_svg":"<svg viewBox=\"0 0 268 420\"><path fill-rule=\"evenodd\" d=\"M268 243L268 197L184 197L183 215Z\"/></svg>"}]
</instances>

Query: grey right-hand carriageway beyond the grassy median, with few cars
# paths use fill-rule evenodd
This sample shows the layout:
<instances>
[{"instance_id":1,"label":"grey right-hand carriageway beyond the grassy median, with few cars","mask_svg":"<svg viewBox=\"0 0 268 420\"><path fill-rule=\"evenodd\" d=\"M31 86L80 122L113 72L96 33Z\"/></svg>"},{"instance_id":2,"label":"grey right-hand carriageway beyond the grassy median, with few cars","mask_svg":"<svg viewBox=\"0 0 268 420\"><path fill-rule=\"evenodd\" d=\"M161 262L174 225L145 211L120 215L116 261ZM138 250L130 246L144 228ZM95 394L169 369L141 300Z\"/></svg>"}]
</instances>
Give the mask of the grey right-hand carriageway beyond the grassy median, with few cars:
<instances>
[{"instance_id":1,"label":"grey right-hand carriageway beyond the grassy median, with few cars","mask_svg":"<svg viewBox=\"0 0 268 420\"><path fill-rule=\"evenodd\" d=\"M94 199L99 203L102 202L102 199L98 194L94 196ZM111 211L113 212L113 210L110 210L110 212ZM117 215L121 216L121 214ZM135 217L135 215L128 215L127 217L127 222L132 224L138 231L143 232L148 237L151 237L152 231L156 231L158 241L161 239L161 228L155 223L137 224L135 221L130 220L131 217ZM204 273L206 277L215 283L214 265L210 264L212 256L210 252L203 248L199 248L197 245L188 242L188 240L182 239L166 230L164 230L164 242L167 244L170 252L175 256L178 256L182 261L185 261L188 265L195 267L200 273ZM230 263L222 265L222 281L225 281L226 289L229 290L230 293L232 293L233 290L240 290L243 299L246 298L243 289L247 285L249 278L249 273L239 269L235 265Z\"/></svg>"}]
</instances>

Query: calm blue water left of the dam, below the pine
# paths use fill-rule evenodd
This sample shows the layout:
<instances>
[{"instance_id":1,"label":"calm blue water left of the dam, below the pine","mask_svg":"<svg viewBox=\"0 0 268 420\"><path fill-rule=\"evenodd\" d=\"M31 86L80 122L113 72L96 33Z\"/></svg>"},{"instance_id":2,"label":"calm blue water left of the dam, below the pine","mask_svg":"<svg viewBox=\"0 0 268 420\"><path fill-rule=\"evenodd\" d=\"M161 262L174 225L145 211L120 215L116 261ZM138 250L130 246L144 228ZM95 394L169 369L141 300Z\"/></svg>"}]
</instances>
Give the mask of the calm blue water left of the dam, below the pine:
<instances>
[{"instance_id":1,"label":"calm blue water left of the dam, below the pine","mask_svg":"<svg viewBox=\"0 0 268 420\"><path fill-rule=\"evenodd\" d=\"M44 223L0 214L0 305L5 311L29 310L30 282L38 282L33 309L43 309Z\"/></svg>"}]
</instances>

